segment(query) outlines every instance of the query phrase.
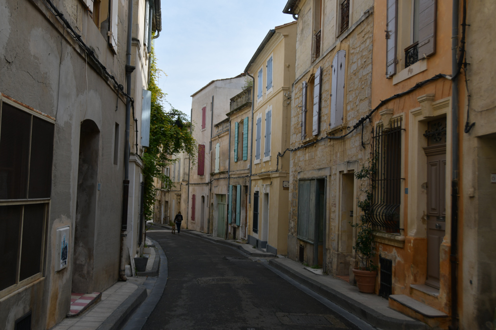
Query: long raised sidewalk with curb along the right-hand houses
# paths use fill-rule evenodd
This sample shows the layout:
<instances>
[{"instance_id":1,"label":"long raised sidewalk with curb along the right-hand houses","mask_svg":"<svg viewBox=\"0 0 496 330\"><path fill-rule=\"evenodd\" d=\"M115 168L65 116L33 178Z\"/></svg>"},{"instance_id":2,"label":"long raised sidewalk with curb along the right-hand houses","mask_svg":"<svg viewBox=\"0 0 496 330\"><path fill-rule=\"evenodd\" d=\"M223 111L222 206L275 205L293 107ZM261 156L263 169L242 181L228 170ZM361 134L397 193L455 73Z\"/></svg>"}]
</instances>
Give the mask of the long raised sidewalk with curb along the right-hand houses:
<instances>
[{"instance_id":1,"label":"long raised sidewalk with curb along the right-hand houses","mask_svg":"<svg viewBox=\"0 0 496 330\"><path fill-rule=\"evenodd\" d=\"M154 224L155 226L170 229L169 226ZM181 232L226 244L241 250L249 257L265 258L273 269L287 275L296 282L308 287L322 297L354 314L360 319L382 330L417 330L430 329L425 323L414 320L388 307L388 300L375 294L361 293L358 287L344 280L328 275L319 275L318 272L308 270L299 262L290 260L281 255L274 255L255 249L244 242L227 240L191 230Z\"/></svg>"}]
</instances>

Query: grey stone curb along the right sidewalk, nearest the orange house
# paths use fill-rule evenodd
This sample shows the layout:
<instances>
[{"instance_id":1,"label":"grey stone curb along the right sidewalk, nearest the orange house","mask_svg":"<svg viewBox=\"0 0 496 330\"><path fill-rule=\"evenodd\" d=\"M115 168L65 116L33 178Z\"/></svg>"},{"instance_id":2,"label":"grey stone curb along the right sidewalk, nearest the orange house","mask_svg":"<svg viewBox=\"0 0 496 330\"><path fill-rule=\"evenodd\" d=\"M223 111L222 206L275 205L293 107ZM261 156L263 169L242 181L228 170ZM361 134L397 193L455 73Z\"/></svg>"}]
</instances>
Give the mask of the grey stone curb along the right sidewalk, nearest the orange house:
<instances>
[{"instance_id":1,"label":"grey stone curb along the right sidewalk, nearest the orange house","mask_svg":"<svg viewBox=\"0 0 496 330\"><path fill-rule=\"evenodd\" d=\"M289 276L298 283L305 285L322 297L332 301L348 312L368 322L373 327L383 330L429 330L429 326L419 321L398 320L385 316L372 308L364 305L328 286L315 280L294 272L290 267L277 262L277 259L269 260L269 265Z\"/></svg>"}]
</instances>

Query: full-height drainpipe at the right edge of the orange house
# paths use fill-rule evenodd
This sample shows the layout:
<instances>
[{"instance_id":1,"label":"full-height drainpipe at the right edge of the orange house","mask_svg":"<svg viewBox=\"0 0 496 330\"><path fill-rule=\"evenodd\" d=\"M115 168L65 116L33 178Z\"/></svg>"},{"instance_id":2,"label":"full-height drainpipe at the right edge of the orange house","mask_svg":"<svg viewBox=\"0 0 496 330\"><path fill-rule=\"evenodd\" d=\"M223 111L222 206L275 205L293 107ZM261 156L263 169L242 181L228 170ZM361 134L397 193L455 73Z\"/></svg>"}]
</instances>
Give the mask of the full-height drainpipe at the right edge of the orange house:
<instances>
[{"instance_id":1,"label":"full-height drainpipe at the right edge of the orange house","mask_svg":"<svg viewBox=\"0 0 496 330\"><path fill-rule=\"evenodd\" d=\"M451 325L450 330L458 329L458 172L459 172L459 134L458 134L458 9L459 0L453 0L453 15L451 22ZM463 56L461 54L460 56Z\"/></svg>"}]
</instances>

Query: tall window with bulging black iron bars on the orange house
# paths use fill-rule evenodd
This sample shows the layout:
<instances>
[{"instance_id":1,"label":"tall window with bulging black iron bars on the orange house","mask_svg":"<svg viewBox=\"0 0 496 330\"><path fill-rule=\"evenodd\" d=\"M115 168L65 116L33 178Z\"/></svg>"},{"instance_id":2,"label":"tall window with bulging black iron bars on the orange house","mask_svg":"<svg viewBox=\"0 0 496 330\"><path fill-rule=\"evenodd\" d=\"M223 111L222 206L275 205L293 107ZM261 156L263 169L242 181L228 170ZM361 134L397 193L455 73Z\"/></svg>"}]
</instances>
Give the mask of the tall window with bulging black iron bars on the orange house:
<instances>
[{"instance_id":1,"label":"tall window with bulging black iron bars on the orange house","mask_svg":"<svg viewBox=\"0 0 496 330\"><path fill-rule=\"evenodd\" d=\"M399 233L401 196L401 118L391 119L389 128L377 125L372 150L372 225L375 230Z\"/></svg>"}]
</instances>

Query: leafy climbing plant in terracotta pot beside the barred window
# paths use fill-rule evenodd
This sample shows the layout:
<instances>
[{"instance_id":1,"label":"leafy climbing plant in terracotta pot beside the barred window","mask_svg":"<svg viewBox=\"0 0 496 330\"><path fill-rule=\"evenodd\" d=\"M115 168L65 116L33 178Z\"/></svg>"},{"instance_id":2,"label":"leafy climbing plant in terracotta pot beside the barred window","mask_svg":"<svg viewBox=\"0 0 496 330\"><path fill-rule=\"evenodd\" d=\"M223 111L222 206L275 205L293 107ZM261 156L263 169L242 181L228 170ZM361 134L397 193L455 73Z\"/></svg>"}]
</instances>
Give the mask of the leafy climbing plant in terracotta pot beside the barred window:
<instances>
[{"instance_id":1,"label":"leafy climbing plant in terracotta pot beside the barred window","mask_svg":"<svg viewBox=\"0 0 496 330\"><path fill-rule=\"evenodd\" d=\"M360 208L360 221L351 224L357 229L357 239L353 249L356 251L359 261L358 267L353 269L355 280L360 292L373 293L375 288L375 277L377 276L377 266L373 263L375 256L375 244L372 229L372 198L373 185L371 176L375 171L375 157L372 157L367 165L355 173L357 179L362 180L361 191L365 193L365 198L357 202Z\"/></svg>"}]
</instances>

